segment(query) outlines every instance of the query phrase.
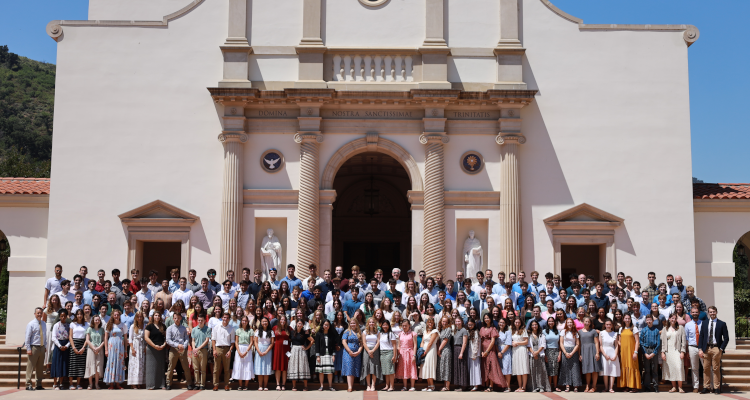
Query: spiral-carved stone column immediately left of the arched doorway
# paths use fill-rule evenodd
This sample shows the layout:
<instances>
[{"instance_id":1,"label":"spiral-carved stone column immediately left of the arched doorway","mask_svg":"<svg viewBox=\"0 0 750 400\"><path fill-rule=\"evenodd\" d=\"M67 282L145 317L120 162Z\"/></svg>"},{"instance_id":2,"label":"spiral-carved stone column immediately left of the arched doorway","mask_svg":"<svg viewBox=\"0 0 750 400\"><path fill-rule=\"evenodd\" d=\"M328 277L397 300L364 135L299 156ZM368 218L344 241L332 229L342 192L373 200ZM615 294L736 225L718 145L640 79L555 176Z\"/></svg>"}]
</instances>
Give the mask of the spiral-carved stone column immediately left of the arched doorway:
<instances>
[{"instance_id":1,"label":"spiral-carved stone column immediately left of the arched doorway","mask_svg":"<svg viewBox=\"0 0 750 400\"><path fill-rule=\"evenodd\" d=\"M297 236L297 275L306 278L307 266L320 265L320 173L318 144L323 135L299 132L294 141L300 144L299 235Z\"/></svg>"}]
</instances>

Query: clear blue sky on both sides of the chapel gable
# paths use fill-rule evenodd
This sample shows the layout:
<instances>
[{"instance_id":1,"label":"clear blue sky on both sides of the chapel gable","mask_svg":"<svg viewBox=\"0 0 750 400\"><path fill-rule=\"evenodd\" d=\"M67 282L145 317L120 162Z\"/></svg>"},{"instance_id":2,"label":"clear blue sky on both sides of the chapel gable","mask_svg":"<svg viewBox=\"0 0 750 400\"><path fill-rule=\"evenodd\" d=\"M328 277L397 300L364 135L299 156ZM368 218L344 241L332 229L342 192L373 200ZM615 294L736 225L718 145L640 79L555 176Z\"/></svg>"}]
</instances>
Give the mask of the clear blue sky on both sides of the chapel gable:
<instances>
[{"instance_id":1,"label":"clear blue sky on both sides of the chapel gable","mask_svg":"<svg viewBox=\"0 0 750 400\"><path fill-rule=\"evenodd\" d=\"M277 0L278 1L278 0ZM529 0L526 0L529 1ZM750 129L748 0L552 0L585 23L691 24L701 31L690 47L693 176L705 182L750 182L745 163ZM55 62L45 33L53 19L86 19L88 0L0 0L0 45L35 60ZM745 110L745 111L743 111Z\"/></svg>"}]
</instances>

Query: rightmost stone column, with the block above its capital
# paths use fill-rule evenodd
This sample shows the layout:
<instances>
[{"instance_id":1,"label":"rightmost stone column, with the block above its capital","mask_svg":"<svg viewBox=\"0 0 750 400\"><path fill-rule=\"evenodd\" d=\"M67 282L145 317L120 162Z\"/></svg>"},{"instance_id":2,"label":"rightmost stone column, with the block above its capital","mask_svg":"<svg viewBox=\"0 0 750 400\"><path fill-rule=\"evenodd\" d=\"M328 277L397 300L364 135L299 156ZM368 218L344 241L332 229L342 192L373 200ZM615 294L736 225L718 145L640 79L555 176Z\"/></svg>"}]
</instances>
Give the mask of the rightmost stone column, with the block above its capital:
<instances>
[{"instance_id":1,"label":"rightmost stone column, with the block above its capital","mask_svg":"<svg viewBox=\"0 0 750 400\"><path fill-rule=\"evenodd\" d=\"M519 145L526 143L520 133L518 110L502 110L500 134L495 141L500 145L500 270L518 273L521 265L521 202L518 185ZM508 118L510 117L510 118ZM506 131L507 130L507 131Z\"/></svg>"}]
</instances>

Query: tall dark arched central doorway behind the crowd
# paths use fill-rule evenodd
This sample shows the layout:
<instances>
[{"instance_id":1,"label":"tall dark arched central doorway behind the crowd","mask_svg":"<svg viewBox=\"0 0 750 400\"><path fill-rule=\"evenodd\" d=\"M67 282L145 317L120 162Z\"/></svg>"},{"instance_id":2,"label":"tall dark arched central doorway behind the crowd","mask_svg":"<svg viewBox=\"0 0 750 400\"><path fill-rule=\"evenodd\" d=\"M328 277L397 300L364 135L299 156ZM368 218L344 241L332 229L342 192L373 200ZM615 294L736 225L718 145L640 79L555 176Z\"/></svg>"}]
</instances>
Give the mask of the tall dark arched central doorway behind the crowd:
<instances>
[{"instance_id":1,"label":"tall dark arched central doorway behind the crowd","mask_svg":"<svg viewBox=\"0 0 750 400\"><path fill-rule=\"evenodd\" d=\"M358 265L367 277L408 269L411 258L412 187L406 169L393 157L364 152L349 158L333 181L332 265Z\"/></svg>"}]
</instances>

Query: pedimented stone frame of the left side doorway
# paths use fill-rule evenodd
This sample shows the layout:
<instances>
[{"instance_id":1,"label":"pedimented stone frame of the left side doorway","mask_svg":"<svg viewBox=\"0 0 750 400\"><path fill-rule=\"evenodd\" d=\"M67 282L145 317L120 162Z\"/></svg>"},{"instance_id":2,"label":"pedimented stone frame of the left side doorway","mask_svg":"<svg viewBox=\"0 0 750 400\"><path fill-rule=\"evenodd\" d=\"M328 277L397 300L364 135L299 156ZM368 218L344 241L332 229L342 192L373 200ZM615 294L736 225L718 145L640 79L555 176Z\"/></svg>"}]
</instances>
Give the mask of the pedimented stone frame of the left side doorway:
<instances>
[{"instance_id":1,"label":"pedimented stone frame of the left side doorway","mask_svg":"<svg viewBox=\"0 0 750 400\"><path fill-rule=\"evenodd\" d=\"M200 218L161 200L118 216L128 241L128 273L143 269L144 242L180 242L180 276L190 270L190 230Z\"/></svg>"}]
</instances>

